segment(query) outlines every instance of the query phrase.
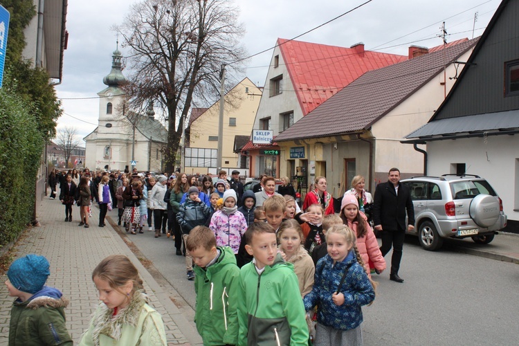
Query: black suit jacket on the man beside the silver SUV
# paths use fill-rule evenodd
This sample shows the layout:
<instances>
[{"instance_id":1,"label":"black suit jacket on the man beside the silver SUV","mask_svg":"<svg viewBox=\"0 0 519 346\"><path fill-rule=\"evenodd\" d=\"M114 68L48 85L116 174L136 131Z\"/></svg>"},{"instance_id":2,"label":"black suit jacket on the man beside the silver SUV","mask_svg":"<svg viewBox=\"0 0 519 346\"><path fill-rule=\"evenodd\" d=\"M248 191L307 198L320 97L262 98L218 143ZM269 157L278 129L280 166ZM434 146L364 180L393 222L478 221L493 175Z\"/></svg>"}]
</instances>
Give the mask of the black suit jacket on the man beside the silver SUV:
<instances>
[{"instance_id":1,"label":"black suit jacket on the man beside the silver SUV","mask_svg":"<svg viewBox=\"0 0 519 346\"><path fill-rule=\"evenodd\" d=\"M398 196L390 181L376 185L373 203L375 226L382 225L382 230L406 230L406 211L408 224L415 226L415 209L406 185L399 183Z\"/></svg>"}]
</instances>

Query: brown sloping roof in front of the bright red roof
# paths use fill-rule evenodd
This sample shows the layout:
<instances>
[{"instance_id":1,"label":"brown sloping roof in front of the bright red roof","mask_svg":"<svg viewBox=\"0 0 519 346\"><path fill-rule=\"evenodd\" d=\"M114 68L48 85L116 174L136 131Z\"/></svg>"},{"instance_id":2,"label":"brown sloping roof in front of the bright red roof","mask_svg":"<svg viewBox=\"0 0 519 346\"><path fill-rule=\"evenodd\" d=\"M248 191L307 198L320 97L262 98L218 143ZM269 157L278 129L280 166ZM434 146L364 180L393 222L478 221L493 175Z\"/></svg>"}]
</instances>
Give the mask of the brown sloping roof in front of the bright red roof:
<instances>
[{"instance_id":1,"label":"brown sloping roof in front of the bright red roof","mask_svg":"<svg viewBox=\"0 0 519 346\"><path fill-rule=\"evenodd\" d=\"M369 71L274 138L293 140L363 131L468 51L477 38ZM316 126L316 124L319 126Z\"/></svg>"}]
</instances>

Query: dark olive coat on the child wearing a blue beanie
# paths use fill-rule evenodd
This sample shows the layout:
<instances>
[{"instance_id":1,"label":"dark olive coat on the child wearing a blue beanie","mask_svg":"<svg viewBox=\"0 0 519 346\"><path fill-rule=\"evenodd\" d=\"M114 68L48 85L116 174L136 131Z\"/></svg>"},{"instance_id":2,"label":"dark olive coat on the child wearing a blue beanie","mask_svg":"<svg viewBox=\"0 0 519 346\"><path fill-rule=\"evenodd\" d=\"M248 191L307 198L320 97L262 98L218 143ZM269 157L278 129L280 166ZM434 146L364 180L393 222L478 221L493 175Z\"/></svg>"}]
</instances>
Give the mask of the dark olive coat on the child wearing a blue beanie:
<instances>
[{"instance_id":1,"label":"dark olive coat on the child wearing a blue beanie","mask_svg":"<svg viewBox=\"0 0 519 346\"><path fill-rule=\"evenodd\" d=\"M73 345L65 325L69 300L53 287L44 286L26 302L12 304L9 345Z\"/></svg>"}]
</instances>

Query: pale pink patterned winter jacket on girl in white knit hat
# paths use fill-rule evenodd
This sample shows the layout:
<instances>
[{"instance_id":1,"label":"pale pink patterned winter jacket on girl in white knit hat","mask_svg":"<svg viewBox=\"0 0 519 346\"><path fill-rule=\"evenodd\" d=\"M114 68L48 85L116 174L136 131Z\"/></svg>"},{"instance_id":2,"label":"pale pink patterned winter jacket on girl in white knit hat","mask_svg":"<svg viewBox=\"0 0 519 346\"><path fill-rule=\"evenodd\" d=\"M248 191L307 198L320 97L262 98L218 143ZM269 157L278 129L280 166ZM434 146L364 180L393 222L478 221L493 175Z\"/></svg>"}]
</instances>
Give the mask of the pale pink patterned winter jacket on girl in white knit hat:
<instances>
[{"instance_id":1,"label":"pale pink patterned winter jacket on girl in white knit hat","mask_svg":"<svg viewBox=\"0 0 519 346\"><path fill-rule=\"evenodd\" d=\"M223 210L218 210L212 215L209 228L215 233L217 246L230 246L233 253L238 253L242 235L247 230L247 221L237 210L230 215Z\"/></svg>"}]
</instances>

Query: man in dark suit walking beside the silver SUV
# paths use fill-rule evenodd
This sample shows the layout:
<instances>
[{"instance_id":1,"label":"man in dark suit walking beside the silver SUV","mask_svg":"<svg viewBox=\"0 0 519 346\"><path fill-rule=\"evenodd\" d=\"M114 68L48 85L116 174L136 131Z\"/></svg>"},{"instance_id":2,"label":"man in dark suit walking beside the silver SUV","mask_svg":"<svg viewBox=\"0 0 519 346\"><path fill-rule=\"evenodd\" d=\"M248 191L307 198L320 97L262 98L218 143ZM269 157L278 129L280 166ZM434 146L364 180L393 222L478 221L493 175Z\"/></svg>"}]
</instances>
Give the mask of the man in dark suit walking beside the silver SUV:
<instances>
[{"instance_id":1,"label":"man in dark suit walking beside the silver SUV","mask_svg":"<svg viewBox=\"0 0 519 346\"><path fill-rule=\"evenodd\" d=\"M412 206L411 194L406 185L400 183L400 171L392 168L387 183L376 186L373 203L373 222L382 238L380 251L385 256L393 246L391 257L390 280L403 282L399 277L400 260L402 258L403 239L406 236L406 211L408 214L408 230L415 228L415 209Z\"/></svg>"}]
</instances>

